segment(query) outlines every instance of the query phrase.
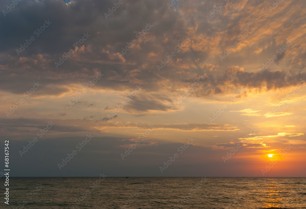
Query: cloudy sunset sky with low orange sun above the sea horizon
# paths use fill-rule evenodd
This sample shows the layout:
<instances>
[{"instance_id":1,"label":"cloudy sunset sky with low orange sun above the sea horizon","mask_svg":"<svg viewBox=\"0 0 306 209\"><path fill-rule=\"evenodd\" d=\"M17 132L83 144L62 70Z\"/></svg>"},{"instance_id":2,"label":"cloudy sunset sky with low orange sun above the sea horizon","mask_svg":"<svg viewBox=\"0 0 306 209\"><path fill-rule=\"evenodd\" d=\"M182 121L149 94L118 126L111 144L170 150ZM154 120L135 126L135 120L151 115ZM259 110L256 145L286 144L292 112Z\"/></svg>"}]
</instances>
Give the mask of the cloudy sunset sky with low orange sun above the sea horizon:
<instances>
[{"instance_id":1,"label":"cloudy sunset sky with low orange sun above the sea horizon","mask_svg":"<svg viewBox=\"0 0 306 209\"><path fill-rule=\"evenodd\" d=\"M304 0L0 8L12 176L306 177Z\"/></svg>"}]
</instances>

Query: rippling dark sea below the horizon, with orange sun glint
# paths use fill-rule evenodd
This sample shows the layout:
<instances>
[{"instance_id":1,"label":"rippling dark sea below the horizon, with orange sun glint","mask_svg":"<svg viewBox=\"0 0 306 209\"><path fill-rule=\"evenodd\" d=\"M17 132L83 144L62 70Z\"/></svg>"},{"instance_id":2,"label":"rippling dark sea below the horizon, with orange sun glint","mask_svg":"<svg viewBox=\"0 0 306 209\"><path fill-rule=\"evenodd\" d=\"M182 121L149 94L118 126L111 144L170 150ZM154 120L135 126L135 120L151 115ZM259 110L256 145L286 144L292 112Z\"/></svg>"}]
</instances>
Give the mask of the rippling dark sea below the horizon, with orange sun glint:
<instances>
[{"instance_id":1,"label":"rippling dark sea below the horizon, with orange sun glint","mask_svg":"<svg viewBox=\"0 0 306 209\"><path fill-rule=\"evenodd\" d=\"M4 178L1 178L1 185ZM299 208L306 178L10 178L1 208Z\"/></svg>"}]
</instances>

